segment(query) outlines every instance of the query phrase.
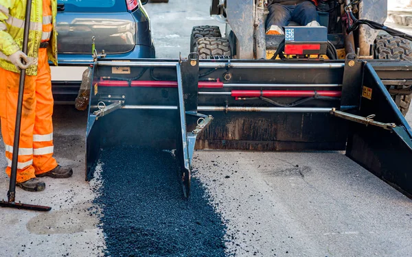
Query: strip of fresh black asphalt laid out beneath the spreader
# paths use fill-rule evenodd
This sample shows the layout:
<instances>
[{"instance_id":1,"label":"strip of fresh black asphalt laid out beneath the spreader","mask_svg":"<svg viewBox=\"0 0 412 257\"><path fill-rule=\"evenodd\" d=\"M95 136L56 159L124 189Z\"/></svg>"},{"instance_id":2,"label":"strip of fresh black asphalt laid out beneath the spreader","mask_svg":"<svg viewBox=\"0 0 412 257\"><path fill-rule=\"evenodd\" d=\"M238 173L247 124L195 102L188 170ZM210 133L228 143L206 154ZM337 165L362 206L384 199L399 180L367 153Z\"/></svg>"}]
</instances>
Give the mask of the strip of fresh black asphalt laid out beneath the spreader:
<instances>
[{"instance_id":1,"label":"strip of fresh black asphalt laid out beneath the spreader","mask_svg":"<svg viewBox=\"0 0 412 257\"><path fill-rule=\"evenodd\" d=\"M225 230L205 188L183 198L172 154L130 147L100 154L106 256L225 256Z\"/></svg>"}]
</instances>

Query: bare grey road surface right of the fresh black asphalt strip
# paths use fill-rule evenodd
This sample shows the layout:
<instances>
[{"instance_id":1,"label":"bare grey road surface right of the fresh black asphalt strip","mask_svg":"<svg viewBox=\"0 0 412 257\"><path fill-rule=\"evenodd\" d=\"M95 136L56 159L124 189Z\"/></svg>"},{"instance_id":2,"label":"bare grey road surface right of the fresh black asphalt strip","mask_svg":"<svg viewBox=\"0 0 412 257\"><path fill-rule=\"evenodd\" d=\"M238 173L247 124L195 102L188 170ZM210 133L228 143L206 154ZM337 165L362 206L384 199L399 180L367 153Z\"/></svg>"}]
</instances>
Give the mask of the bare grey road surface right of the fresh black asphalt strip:
<instances>
[{"instance_id":1,"label":"bare grey road surface right of the fresh black asphalt strip","mask_svg":"<svg viewBox=\"0 0 412 257\"><path fill-rule=\"evenodd\" d=\"M411 256L412 202L339 152L200 151L237 256Z\"/></svg>"}]
</instances>

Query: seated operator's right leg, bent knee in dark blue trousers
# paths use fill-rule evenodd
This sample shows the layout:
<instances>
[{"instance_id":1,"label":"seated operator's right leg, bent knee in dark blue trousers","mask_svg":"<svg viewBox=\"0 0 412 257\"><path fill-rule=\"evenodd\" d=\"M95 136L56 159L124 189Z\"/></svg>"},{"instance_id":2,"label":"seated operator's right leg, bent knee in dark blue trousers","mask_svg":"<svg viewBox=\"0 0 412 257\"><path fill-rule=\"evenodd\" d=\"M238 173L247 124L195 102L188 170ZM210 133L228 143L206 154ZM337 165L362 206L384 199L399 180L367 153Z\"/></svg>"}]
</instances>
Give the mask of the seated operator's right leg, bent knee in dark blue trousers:
<instances>
[{"instance_id":1,"label":"seated operator's right leg, bent knee in dark blue trousers","mask_svg":"<svg viewBox=\"0 0 412 257\"><path fill-rule=\"evenodd\" d=\"M299 3L292 12L292 21L302 26L316 27L319 25L319 15L316 6L311 1Z\"/></svg>"}]
</instances>

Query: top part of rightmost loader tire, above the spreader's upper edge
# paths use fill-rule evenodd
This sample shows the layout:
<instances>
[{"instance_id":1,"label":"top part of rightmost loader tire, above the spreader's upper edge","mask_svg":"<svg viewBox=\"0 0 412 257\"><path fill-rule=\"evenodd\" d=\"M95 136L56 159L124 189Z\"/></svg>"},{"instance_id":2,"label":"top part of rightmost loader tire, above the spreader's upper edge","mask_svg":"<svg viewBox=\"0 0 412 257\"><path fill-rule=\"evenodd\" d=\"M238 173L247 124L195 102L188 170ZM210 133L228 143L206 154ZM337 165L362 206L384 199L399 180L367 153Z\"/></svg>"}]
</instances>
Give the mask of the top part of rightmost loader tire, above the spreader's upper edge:
<instances>
[{"instance_id":1,"label":"top part of rightmost loader tire, above the spreader's upper edge","mask_svg":"<svg viewBox=\"0 0 412 257\"><path fill-rule=\"evenodd\" d=\"M398 36L380 35L375 40L375 58L412 61L411 41Z\"/></svg>"}]
</instances>

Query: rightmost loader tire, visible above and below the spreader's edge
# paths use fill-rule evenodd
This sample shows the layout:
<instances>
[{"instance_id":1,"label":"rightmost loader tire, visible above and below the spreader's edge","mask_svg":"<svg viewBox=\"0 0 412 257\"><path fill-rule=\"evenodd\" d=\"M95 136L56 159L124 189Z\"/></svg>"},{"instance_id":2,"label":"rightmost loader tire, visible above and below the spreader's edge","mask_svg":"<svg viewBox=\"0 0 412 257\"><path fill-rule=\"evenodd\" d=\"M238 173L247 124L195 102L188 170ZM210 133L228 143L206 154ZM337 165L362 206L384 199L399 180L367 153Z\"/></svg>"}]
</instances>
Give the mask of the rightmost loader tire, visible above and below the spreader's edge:
<instances>
[{"instance_id":1,"label":"rightmost loader tire, visible above and below the spreader's edge","mask_svg":"<svg viewBox=\"0 0 412 257\"><path fill-rule=\"evenodd\" d=\"M398 36L380 35L375 40L375 58L385 60L407 60L412 61L411 41ZM396 98L399 99L396 99ZM392 95L398 102L400 112L405 116L411 105L412 95ZM397 101L398 100L398 101Z\"/></svg>"}]
</instances>

